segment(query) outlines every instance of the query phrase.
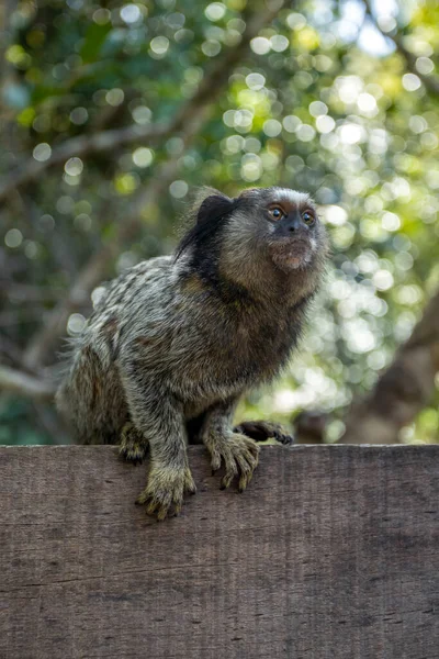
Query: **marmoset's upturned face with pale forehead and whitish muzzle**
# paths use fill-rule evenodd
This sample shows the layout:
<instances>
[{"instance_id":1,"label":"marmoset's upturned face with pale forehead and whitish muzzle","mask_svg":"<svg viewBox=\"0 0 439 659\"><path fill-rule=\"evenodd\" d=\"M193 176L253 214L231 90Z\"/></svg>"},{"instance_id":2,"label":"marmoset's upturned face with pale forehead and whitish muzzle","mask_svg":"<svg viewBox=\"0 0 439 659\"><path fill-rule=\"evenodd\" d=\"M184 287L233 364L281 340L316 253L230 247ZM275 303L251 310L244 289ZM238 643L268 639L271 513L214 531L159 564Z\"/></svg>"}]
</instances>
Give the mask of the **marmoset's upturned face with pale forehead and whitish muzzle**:
<instances>
[{"instance_id":1,"label":"marmoset's upturned face with pale forehead and whitish muzzle","mask_svg":"<svg viewBox=\"0 0 439 659\"><path fill-rule=\"evenodd\" d=\"M312 267L323 247L325 232L307 194L266 188L245 191L241 199L243 206L248 203L258 243L275 267L284 271Z\"/></svg>"}]
</instances>

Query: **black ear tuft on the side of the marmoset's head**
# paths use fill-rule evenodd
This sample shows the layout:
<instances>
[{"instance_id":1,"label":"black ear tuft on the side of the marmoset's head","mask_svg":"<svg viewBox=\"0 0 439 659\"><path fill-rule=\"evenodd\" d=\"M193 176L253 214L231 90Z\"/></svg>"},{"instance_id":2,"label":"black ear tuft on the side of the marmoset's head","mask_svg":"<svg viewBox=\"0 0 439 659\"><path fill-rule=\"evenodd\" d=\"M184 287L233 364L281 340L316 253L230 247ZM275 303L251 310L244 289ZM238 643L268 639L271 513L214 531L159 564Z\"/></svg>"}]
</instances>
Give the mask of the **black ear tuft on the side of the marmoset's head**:
<instances>
[{"instance_id":1,"label":"black ear tuft on the side of the marmoset's head","mask_svg":"<svg viewBox=\"0 0 439 659\"><path fill-rule=\"evenodd\" d=\"M188 247L196 252L206 249L219 234L236 208L236 200L225 194L211 194L201 203L195 225L183 236L176 249L176 260Z\"/></svg>"}]
</instances>

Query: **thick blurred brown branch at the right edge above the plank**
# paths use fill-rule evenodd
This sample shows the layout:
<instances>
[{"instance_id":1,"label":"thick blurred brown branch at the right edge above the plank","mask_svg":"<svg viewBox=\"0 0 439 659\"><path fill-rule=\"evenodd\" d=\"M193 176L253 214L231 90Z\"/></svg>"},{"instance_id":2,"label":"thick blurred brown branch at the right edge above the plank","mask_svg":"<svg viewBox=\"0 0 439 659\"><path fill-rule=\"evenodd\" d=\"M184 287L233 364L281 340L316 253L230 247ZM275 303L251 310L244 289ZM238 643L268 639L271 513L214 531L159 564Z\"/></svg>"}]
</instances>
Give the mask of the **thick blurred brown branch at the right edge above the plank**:
<instances>
[{"instance_id":1,"label":"thick blurred brown branch at the right edge above the plank","mask_svg":"<svg viewBox=\"0 0 439 659\"><path fill-rule=\"evenodd\" d=\"M350 409L340 444L397 444L401 428L431 400L438 372L439 292L371 393Z\"/></svg>"}]
</instances>

